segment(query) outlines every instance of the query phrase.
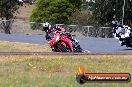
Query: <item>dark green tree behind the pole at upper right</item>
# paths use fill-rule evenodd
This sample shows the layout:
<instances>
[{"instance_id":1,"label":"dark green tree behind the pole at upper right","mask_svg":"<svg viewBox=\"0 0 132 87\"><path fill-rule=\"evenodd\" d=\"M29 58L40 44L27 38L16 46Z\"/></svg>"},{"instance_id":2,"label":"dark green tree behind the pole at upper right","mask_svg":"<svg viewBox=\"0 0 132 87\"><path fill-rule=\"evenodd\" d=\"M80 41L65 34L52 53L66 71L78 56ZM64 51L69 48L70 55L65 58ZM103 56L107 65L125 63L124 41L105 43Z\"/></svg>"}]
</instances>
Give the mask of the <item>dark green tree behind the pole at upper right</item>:
<instances>
[{"instance_id":1,"label":"dark green tree behind the pole at upper right","mask_svg":"<svg viewBox=\"0 0 132 87\"><path fill-rule=\"evenodd\" d=\"M94 0L91 5L93 19L101 25L110 24L113 18L117 20L122 19L122 5L123 0ZM125 5L125 22L131 20L132 22L132 1L126 0Z\"/></svg>"}]
</instances>

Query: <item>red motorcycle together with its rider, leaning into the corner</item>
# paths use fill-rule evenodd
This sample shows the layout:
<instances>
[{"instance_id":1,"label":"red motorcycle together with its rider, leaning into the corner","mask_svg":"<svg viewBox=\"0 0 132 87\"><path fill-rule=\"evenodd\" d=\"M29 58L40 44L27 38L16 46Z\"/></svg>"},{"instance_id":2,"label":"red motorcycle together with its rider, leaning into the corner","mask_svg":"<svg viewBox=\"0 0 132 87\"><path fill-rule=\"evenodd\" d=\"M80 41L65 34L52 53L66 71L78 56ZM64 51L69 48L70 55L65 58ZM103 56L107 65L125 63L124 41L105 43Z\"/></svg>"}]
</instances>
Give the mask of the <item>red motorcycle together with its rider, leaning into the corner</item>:
<instances>
[{"instance_id":1,"label":"red motorcycle together with its rider, leaning into the corner","mask_svg":"<svg viewBox=\"0 0 132 87\"><path fill-rule=\"evenodd\" d=\"M70 33L65 32L61 26L50 28L48 23L43 24L43 31L46 32L46 40L48 45L54 52L83 52L76 40Z\"/></svg>"}]
</instances>

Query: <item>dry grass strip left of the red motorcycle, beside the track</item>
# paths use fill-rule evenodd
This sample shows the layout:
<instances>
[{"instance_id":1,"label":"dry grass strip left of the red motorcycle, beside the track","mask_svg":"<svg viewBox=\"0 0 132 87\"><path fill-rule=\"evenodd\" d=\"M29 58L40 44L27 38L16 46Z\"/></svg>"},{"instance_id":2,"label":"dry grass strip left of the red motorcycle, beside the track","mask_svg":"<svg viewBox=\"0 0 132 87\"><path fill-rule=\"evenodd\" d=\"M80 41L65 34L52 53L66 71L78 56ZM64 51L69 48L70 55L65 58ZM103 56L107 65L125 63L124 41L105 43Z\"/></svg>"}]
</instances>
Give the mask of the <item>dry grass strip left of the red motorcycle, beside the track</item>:
<instances>
[{"instance_id":1,"label":"dry grass strip left of the red motorcycle, beside the track","mask_svg":"<svg viewBox=\"0 0 132 87\"><path fill-rule=\"evenodd\" d=\"M29 44L19 42L0 41L0 52L51 52L47 44Z\"/></svg>"}]
</instances>

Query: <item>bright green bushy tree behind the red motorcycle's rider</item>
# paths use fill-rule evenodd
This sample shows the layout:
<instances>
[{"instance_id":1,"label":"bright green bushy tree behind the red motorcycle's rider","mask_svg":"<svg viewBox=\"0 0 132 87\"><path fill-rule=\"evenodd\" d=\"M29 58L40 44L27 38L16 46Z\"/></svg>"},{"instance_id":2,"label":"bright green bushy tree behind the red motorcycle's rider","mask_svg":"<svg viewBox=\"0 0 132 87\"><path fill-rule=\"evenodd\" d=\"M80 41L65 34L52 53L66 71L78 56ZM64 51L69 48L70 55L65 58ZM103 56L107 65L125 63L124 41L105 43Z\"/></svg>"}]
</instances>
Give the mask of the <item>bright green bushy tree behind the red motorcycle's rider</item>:
<instances>
[{"instance_id":1,"label":"bright green bushy tree behind the red motorcycle's rider","mask_svg":"<svg viewBox=\"0 0 132 87\"><path fill-rule=\"evenodd\" d=\"M72 14L80 7L81 0L38 0L30 21L68 24Z\"/></svg>"}]
</instances>

